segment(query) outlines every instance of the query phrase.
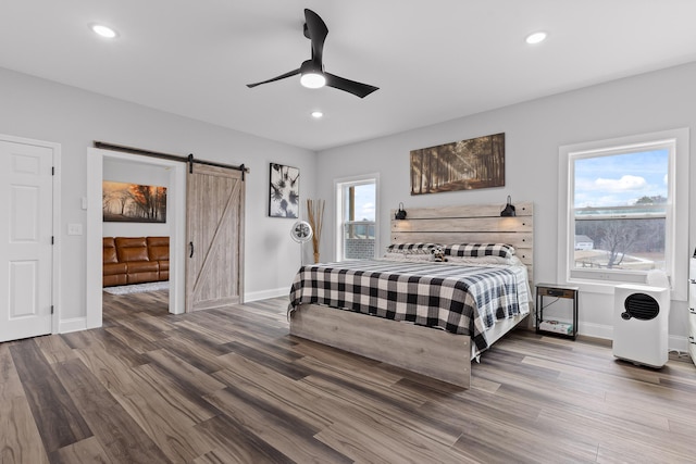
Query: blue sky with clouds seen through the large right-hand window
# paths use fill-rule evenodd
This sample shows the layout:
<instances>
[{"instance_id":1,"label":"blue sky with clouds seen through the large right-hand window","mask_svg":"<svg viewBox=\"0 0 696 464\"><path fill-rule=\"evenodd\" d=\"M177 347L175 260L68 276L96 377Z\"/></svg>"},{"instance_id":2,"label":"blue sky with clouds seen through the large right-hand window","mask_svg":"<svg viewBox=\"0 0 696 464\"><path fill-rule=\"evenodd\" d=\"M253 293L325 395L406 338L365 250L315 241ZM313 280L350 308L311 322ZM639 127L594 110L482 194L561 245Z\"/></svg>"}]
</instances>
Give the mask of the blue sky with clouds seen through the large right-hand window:
<instances>
[{"instance_id":1,"label":"blue sky with clouds seen through the large right-hand window","mask_svg":"<svg viewBox=\"0 0 696 464\"><path fill-rule=\"evenodd\" d=\"M641 197L667 198L669 151L575 160L575 208L626 206Z\"/></svg>"}]
</instances>

